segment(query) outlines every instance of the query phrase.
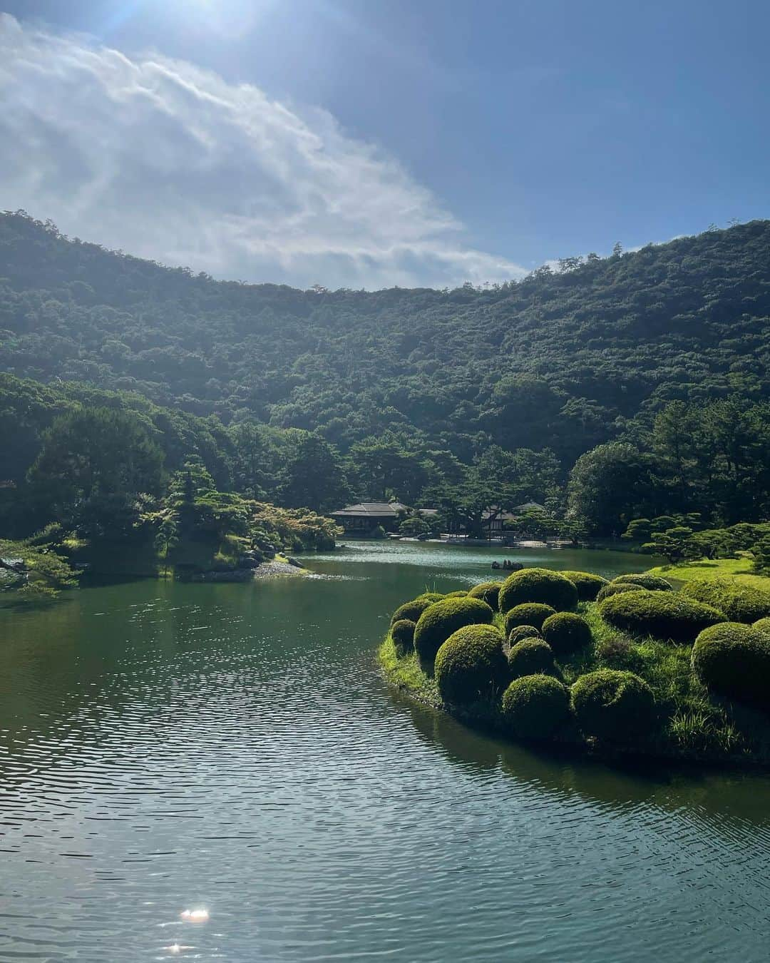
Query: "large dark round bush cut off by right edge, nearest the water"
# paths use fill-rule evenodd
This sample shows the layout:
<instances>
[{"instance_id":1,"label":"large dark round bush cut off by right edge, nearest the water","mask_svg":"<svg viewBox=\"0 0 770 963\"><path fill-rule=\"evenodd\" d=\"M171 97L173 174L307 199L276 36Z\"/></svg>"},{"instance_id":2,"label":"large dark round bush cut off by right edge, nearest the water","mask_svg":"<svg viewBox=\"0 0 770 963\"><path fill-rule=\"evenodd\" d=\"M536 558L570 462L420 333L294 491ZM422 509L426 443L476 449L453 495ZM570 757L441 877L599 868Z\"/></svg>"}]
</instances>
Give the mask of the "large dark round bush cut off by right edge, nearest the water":
<instances>
[{"instance_id":1,"label":"large dark round bush cut off by right edge, nearest the water","mask_svg":"<svg viewBox=\"0 0 770 963\"><path fill-rule=\"evenodd\" d=\"M743 622L712 625L696 638L692 667L714 692L744 702L770 702L770 636Z\"/></svg>"}]
</instances>

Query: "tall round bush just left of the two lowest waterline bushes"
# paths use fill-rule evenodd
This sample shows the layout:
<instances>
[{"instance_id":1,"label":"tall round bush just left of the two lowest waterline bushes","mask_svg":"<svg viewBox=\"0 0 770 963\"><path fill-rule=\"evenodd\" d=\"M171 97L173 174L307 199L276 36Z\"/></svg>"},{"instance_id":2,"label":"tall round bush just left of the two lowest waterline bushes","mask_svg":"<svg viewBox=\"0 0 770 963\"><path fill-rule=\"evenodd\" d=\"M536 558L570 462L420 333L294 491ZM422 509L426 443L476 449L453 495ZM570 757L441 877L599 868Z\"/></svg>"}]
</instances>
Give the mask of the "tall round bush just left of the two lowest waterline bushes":
<instances>
[{"instance_id":1,"label":"tall round bush just left of the two lowest waterline bushes","mask_svg":"<svg viewBox=\"0 0 770 963\"><path fill-rule=\"evenodd\" d=\"M436 685L445 702L467 705L501 692L510 678L494 625L466 625L436 653Z\"/></svg>"}]
</instances>

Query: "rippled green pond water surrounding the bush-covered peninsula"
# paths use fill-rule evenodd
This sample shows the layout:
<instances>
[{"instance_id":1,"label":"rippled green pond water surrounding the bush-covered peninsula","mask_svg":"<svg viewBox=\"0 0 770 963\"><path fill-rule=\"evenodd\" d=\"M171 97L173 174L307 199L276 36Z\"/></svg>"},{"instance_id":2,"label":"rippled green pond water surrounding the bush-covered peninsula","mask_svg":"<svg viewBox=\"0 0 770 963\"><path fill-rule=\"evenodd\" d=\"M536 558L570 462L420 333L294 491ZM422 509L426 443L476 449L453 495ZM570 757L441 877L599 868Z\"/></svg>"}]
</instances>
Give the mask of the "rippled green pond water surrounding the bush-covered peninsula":
<instances>
[{"instance_id":1,"label":"rippled green pond water surrounding the bush-covered peninsula","mask_svg":"<svg viewBox=\"0 0 770 963\"><path fill-rule=\"evenodd\" d=\"M384 685L389 612L492 558L0 612L0 959L766 960L770 781L552 759Z\"/></svg>"}]
</instances>

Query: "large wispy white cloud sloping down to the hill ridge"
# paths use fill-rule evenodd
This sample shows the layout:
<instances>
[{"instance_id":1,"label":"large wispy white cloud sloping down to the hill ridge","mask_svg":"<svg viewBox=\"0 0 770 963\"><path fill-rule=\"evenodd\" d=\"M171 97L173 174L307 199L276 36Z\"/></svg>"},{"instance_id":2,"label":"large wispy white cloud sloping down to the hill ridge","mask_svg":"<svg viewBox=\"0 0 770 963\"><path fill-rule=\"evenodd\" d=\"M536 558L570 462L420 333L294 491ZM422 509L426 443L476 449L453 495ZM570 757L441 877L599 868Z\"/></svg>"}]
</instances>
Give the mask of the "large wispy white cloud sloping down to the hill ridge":
<instances>
[{"instance_id":1,"label":"large wispy white cloud sloping down to the hill ridge","mask_svg":"<svg viewBox=\"0 0 770 963\"><path fill-rule=\"evenodd\" d=\"M318 109L0 14L0 207L220 277L443 287L521 276Z\"/></svg>"}]
</instances>

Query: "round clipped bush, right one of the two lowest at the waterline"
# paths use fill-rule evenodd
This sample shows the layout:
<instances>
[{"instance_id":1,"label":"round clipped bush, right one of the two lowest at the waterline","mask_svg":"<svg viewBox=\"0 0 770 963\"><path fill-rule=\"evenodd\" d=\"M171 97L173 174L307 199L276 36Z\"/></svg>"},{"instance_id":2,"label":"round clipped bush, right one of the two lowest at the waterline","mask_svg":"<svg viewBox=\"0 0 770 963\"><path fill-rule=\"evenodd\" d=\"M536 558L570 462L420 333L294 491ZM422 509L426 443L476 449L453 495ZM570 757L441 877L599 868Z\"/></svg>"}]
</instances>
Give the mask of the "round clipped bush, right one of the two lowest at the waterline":
<instances>
[{"instance_id":1,"label":"round clipped bush, right one of the two lowest at the waterline","mask_svg":"<svg viewBox=\"0 0 770 963\"><path fill-rule=\"evenodd\" d=\"M586 736L625 742L649 730L655 696L633 672L600 668L581 675L572 687L572 708Z\"/></svg>"}]
</instances>

